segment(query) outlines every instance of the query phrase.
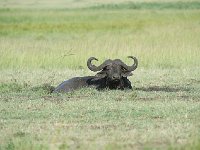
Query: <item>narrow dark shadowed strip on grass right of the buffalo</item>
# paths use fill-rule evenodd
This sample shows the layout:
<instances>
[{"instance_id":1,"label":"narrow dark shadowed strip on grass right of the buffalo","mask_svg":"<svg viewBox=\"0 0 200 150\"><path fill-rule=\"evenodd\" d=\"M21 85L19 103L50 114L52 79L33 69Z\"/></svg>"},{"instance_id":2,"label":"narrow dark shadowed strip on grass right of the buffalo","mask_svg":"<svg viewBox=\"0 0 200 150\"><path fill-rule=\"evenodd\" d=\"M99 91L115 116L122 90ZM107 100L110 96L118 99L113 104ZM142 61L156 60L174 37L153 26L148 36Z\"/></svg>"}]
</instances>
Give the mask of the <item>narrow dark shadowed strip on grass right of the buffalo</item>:
<instances>
[{"instance_id":1,"label":"narrow dark shadowed strip on grass right of the buffalo","mask_svg":"<svg viewBox=\"0 0 200 150\"><path fill-rule=\"evenodd\" d=\"M144 92L186 92L186 91L190 91L189 88L185 88L185 87L168 87L168 86L137 87L135 89L138 91L144 91Z\"/></svg>"}]
</instances>

